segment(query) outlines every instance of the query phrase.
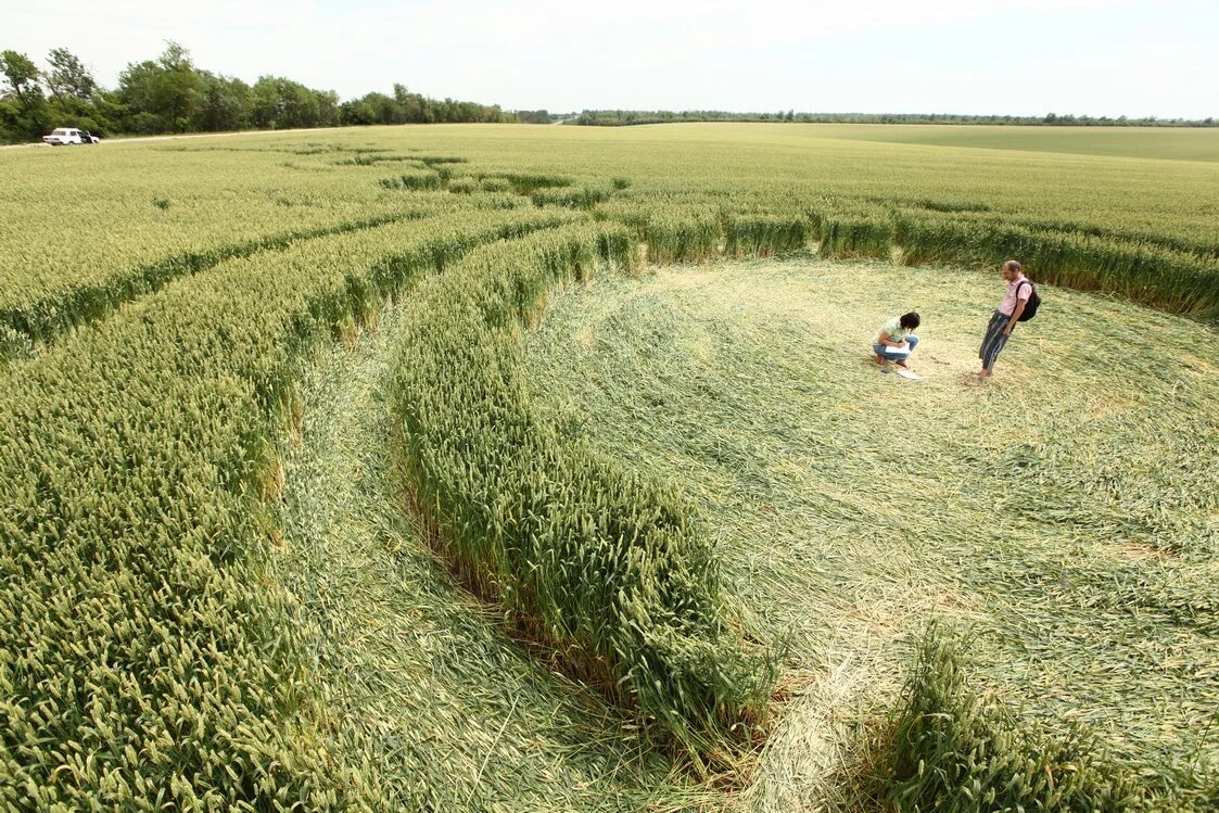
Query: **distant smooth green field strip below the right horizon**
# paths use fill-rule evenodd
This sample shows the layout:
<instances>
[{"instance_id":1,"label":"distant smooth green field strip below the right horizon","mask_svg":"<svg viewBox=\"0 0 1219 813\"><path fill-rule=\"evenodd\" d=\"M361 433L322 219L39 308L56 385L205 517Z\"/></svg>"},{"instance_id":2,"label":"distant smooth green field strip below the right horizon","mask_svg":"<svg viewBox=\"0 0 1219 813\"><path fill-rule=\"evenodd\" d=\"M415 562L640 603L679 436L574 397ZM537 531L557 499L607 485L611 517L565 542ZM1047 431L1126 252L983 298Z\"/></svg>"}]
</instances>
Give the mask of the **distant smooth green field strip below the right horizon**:
<instances>
[{"instance_id":1,"label":"distant smooth green field strip below the right horizon","mask_svg":"<svg viewBox=\"0 0 1219 813\"><path fill-rule=\"evenodd\" d=\"M1219 161L1219 127L1000 127L811 124L819 138L886 144L1072 152L1126 158Z\"/></svg>"}]
</instances>

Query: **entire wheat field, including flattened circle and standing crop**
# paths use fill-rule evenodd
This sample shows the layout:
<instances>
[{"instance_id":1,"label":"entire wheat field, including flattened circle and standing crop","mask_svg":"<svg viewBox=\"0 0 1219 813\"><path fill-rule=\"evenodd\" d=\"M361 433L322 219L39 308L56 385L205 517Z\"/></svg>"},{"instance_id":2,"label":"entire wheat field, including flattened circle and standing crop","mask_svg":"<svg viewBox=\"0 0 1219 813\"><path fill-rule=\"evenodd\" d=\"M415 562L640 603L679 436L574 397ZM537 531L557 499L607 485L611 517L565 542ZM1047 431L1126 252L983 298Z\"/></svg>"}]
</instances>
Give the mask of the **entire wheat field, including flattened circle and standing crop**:
<instances>
[{"instance_id":1,"label":"entire wheat field, including flattened circle and standing crop","mask_svg":"<svg viewBox=\"0 0 1219 813\"><path fill-rule=\"evenodd\" d=\"M1217 222L1214 130L0 152L0 800L1208 809Z\"/></svg>"}]
</instances>

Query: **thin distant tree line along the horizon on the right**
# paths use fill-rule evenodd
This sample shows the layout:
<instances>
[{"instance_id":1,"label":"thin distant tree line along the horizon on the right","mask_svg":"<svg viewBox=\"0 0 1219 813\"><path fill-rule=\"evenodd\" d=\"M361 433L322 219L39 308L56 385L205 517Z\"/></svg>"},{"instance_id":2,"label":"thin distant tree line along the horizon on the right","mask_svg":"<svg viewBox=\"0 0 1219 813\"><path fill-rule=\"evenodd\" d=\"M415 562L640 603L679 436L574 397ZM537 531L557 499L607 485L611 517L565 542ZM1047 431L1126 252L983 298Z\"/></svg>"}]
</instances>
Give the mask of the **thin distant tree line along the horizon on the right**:
<instances>
[{"instance_id":1,"label":"thin distant tree line along the horizon on the right","mask_svg":"<svg viewBox=\"0 0 1219 813\"><path fill-rule=\"evenodd\" d=\"M1126 116L967 116L957 113L730 113L723 110L585 110L564 124L586 127L627 127L673 122L813 122L824 124L1040 124L1050 127L1219 127L1213 117L1130 118Z\"/></svg>"}]
</instances>

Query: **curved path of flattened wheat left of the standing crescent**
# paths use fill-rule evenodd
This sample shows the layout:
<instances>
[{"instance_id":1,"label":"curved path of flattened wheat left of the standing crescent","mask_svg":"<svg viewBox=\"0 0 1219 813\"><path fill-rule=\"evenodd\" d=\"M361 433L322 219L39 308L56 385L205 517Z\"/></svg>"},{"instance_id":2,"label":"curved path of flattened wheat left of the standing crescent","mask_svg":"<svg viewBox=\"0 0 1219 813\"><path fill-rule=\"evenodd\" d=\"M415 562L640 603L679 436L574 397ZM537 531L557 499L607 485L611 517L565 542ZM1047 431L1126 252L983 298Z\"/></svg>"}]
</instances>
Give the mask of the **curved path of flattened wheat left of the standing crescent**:
<instances>
[{"instance_id":1,"label":"curved path of flattened wheat left of the standing crescent","mask_svg":"<svg viewBox=\"0 0 1219 813\"><path fill-rule=\"evenodd\" d=\"M688 811L686 784L628 719L507 635L455 585L396 490L385 402L401 313L304 373L284 441L274 572L299 596L335 741L396 809Z\"/></svg>"}]
</instances>

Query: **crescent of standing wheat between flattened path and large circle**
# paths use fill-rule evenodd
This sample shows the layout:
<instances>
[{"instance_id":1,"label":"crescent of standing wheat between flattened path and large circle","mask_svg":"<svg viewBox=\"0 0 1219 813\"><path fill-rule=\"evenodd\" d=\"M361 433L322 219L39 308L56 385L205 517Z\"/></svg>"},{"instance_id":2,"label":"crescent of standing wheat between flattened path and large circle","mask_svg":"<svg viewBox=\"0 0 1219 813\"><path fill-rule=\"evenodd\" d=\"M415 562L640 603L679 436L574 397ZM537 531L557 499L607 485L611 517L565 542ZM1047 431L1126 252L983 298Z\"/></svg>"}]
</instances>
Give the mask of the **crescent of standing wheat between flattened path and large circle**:
<instances>
[{"instance_id":1,"label":"crescent of standing wheat between flattened path and large circle","mask_svg":"<svg viewBox=\"0 0 1219 813\"><path fill-rule=\"evenodd\" d=\"M573 225L427 280L394 408L414 503L461 580L706 768L748 747L778 658L746 645L690 507L564 441L530 405L518 355L516 325L555 285L634 256L625 228Z\"/></svg>"}]
</instances>

